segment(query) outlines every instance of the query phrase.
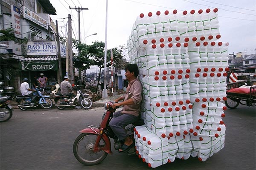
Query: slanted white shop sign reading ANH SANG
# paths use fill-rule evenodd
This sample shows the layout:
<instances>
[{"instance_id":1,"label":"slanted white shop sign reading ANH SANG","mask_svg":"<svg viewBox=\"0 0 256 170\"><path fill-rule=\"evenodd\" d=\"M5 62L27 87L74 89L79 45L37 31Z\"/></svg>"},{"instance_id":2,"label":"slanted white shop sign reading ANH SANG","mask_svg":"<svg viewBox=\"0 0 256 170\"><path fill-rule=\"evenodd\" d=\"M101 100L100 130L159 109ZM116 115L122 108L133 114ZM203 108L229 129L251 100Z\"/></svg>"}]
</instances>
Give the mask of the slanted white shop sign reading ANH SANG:
<instances>
[{"instance_id":1,"label":"slanted white shop sign reading ANH SANG","mask_svg":"<svg viewBox=\"0 0 256 170\"><path fill-rule=\"evenodd\" d=\"M23 8L23 17L31 20L32 22L38 24L39 26L42 26L44 28L47 28L47 20L40 17L38 14L36 14L33 11L30 11L29 8L25 7Z\"/></svg>"}]
</instances>

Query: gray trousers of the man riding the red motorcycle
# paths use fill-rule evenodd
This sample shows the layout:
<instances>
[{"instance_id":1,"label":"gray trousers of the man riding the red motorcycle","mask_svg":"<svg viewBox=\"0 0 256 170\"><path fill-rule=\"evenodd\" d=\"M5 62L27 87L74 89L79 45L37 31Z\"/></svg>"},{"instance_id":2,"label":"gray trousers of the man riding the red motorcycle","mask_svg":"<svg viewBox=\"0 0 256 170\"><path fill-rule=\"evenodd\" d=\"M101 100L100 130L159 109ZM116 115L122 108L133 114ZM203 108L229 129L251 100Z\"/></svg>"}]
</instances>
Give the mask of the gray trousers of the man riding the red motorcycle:
<instances>
[{"instance_id":1,"label":"gray trousers of the man riding the red motorcycle","mask_svg":"<svg viewBox=\"0 0 256 170\"><path fill-rule=\"evenodd\" d=\"M116 136L123 140L127 137L125 131L125 126L136 122L139 119L139 116L134 116L131 114L122 114L121 111L115 112L113 118L109 122L109 125Z\"/></svg>"}]
</instances>

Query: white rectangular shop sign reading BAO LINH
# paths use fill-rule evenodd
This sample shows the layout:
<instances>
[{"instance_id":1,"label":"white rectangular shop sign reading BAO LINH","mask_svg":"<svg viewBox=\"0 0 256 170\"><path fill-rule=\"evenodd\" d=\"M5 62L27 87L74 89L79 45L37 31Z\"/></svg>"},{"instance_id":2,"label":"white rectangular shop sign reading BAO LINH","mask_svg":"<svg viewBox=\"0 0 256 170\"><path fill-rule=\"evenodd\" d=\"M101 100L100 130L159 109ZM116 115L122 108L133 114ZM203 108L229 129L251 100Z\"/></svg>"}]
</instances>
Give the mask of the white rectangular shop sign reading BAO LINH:
<instances>
[{"instance_id":1,"label":"white rectangular shop sign reading BAO LINH","mask_svg":"<svg viewBox=\"0 0 256 170\"><path fill-rule=\"evenodd\" d=\"M29 41L26 44L27 56L53 56L57 55L55 41L34 42Z\"/></svg>"}]
</instances>

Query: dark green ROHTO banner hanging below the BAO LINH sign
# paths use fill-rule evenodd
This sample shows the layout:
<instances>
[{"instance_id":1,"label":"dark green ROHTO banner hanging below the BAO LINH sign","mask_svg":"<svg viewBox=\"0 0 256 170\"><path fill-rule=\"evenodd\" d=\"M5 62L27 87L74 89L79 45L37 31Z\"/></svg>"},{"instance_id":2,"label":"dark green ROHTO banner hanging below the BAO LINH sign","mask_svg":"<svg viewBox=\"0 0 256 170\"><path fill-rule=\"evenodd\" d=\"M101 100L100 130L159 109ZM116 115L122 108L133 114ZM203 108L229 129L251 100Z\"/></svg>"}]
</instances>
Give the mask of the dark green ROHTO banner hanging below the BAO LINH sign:
<instances>
[{"instance_id":1,"label":"dark green ROHTO banner hanging below the BAO LINH sign","mask_svg":"<svg viewBox=\"0 0 256 170\"><path fill-rule=\"evenodd\" d=\"M20 61L20 69L23 71L57 71L58 62L53 61Z\"/></svg>"}]
</instances>

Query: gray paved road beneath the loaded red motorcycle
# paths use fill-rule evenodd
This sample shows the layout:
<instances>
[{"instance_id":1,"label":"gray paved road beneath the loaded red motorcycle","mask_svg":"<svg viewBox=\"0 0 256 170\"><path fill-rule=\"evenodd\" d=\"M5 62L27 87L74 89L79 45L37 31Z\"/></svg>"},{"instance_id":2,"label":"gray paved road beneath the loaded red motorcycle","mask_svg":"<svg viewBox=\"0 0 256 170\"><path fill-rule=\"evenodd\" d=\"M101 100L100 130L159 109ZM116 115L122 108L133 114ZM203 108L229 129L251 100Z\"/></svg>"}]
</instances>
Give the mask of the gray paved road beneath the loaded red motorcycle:
<instances>
[{"instance_id":1,"label":"gray paved road beneath the loaded red motorcycle","mask_svg":"<svg viewBox=\"0 0 256 170\"><path fill-rule=\"evenodd\" d=\"M90 110L14 110L12 119L0 124L1 170L109 170L149 169L137 156L113 151L98 165L84 166L73 156L73 142L87 124L98 125L103 108ZM156 169L256 169L255 108L239 106L226 111L225 147L205 162L190 157L175 159Z\"/></svg>"}]
</instances>

